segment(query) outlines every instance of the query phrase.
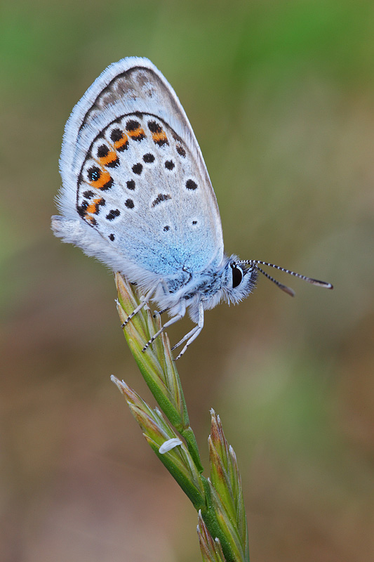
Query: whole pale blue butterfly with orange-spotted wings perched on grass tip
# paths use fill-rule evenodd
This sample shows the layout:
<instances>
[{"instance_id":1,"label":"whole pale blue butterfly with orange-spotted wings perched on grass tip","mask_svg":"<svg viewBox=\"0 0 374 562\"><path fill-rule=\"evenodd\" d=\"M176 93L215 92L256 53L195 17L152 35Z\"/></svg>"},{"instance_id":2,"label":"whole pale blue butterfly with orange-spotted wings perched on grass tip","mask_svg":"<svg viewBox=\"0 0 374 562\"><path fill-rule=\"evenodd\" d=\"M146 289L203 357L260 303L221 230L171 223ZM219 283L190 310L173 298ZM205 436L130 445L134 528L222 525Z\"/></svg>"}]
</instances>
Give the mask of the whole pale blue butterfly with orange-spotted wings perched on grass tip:
<instances>
[{"instance_id":1,"label":"whole pale blue butterfly with orange-spotted wings perched on grass tip","mask_svg":"<svg viewBox=\"0 0 374 562\"><path fill-rule=\"evenodd\" d=\"M174 348L178 358L203 329L204 311L239 303L269 266L224 251L220 211L201 150L173 88L146 58L107 67L79 100L65 126L60 156L60 216L52 228L144 292L123 325L150 300L170 320L188 311L195 326ZM173 349L174 349L173 348ZM178 359L177 358L177 359Z\"/></svg>"}]
</instances>

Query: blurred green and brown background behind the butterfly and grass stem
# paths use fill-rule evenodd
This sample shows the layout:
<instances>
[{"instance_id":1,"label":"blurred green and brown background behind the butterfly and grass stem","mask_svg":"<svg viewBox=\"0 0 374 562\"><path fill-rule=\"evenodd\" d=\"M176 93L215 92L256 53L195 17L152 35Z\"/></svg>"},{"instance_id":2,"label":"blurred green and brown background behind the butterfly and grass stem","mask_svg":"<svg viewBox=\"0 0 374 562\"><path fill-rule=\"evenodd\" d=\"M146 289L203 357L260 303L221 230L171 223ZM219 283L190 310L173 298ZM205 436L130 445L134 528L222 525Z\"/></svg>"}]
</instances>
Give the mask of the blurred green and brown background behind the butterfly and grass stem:
<instances>
[{"instance_id":1,"label":"blurred green and brown background behind the butterfly and grass stem","mask_svg":"<svg viewBox=\"0 0 374 562\"><path fill-rule=\"evenodd\" d=\"M196 514L109 375L149 393L112 275L50 230L73 105L150 58L178 93L227 252L264 277L178 368L206 463L209 408L239 459L251 559L374 559L372 1L17 0L0 15L4 561L199 560ZM183 320L169 330L178 341Z\"/></svg>"}]
</instances>

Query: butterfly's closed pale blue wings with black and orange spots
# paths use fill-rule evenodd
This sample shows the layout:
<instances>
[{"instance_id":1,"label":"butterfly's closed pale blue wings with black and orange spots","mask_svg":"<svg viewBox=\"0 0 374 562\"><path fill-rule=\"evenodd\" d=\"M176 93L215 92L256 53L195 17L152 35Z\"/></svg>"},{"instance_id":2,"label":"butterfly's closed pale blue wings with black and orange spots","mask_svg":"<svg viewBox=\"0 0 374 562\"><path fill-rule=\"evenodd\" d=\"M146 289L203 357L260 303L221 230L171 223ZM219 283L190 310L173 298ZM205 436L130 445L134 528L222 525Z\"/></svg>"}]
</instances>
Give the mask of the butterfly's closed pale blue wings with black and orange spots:
<instances>
[{"instance_id":1,"label":"butterfly's closed pale blue wings with black and orange spots","mask_svg":"<svg viewBox=\"0 0 374 562\"><path fill-rule=\"evenodd\" d=\"M146 59L111 65L81 98L60 170L62 214L98 232L123 263L173 275L222 260L220 214L199 145L173 89Z\"/></svg>"}]
</instances>

